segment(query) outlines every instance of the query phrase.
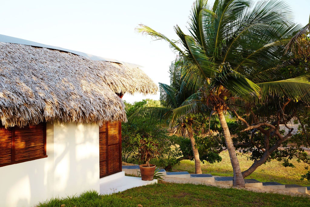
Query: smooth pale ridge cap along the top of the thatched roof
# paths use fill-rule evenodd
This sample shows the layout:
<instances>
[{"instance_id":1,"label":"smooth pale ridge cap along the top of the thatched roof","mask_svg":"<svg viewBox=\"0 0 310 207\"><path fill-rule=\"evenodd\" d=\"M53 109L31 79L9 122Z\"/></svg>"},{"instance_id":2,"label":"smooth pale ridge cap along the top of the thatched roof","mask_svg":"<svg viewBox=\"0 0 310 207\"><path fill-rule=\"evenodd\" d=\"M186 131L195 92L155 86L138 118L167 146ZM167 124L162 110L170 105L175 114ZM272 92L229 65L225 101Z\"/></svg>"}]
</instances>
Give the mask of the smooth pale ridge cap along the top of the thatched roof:
<instances>
[{"instance_id":1,"label":"smooth pale ridge cap along the top of the thatched roof","mask_svg":"<svg viewBox=\"0 0 310 207\"><path fill-rule=\"evenodd\" d=\"M87 57L91 60L94 61L108 61L108 62L116 62L116 63L121 63L122 65L125 65L129 68L139 68L142 67L141 65L136 65L133 63L127 63L127 62L123 62L123 61L118 61L118 60L113 60L110 58L104 58L104 57L100 57L100 56L95 56L95 55L90 55L84 52L78 52L78 51L74 51L74 50L68 50L68 49L64 49L62 47L55 47L55 46L51 46L51 45L45 45L45 44L41 44L41 43L36 43L33 41L29 41L29 40L25 40L25 39L20 39L20 38L15 38L15 37L10 37L7 35L3 35L0 34L0 42L4 42L4 43L14 43L14 44L21 44L21 45L29 45L29 46L35 46L35 47L45 47L45 48L49 48L49 49L55 49L55 50L61 50L61 51L65 51L65 52L71 52L73 54L76 55L80 55L83 57Z\"/></svg>"}]
</instances>

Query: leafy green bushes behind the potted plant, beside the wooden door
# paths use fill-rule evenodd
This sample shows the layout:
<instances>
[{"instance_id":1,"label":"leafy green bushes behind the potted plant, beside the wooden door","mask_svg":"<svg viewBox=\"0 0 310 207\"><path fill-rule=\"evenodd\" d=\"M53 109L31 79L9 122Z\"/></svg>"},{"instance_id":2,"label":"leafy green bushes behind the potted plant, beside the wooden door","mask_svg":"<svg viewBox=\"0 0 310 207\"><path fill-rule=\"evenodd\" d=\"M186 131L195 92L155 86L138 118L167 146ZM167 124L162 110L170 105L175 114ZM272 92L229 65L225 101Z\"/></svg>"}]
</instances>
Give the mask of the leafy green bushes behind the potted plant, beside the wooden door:
<instances>
[{"instance_id":1,"label":"leafy green bushes behind the potted plant, beside the wooden door","mask_svg":"<svg viewBox=\"0 0 310 207\"><path fill-rule=\"evenodd\" d=\"M127 116L145 106L157 107L158 101L146 99L128 106ZM174 139L170 139L166 128L154 120L141 117L135 121L122 123L123 161L138 162L140 160L138 154L140 141L149 137L152 138L151 141L157 144L159 155L154 160L157 165L165 167L168 163L176 162L177 158L181 156L177 143Z\"/></svg>"}]
</instances>

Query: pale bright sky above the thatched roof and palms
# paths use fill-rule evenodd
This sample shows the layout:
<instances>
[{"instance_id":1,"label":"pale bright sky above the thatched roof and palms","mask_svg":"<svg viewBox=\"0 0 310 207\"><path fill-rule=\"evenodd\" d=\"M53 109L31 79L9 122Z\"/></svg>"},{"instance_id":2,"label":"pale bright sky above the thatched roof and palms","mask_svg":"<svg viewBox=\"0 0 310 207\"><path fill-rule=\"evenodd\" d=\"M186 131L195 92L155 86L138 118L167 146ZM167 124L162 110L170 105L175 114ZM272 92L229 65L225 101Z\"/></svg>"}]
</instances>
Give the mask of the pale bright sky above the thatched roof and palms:
<instances>
[{"instance_id":1,"label":"pale bright sky above the thatched roof and palms","mask_svg":"<svg viewBox=\"0 0 310 207\"><path fill-rule=\"evenodd\" d=\"M256 0L255 0L256 1ZM174 53L164 41L152 41L135 32L145 24L176 39L173 26L186 32L194 0L1 0L0 34L38 43L86 52L144 66L155 83L169 83L169 65ZM213 3L214 1L209 1ZM310 0L285 0L295 13L295 21L306 25ZM123 99L144 98L141 94Z\"/></svg>"}]
</instances>

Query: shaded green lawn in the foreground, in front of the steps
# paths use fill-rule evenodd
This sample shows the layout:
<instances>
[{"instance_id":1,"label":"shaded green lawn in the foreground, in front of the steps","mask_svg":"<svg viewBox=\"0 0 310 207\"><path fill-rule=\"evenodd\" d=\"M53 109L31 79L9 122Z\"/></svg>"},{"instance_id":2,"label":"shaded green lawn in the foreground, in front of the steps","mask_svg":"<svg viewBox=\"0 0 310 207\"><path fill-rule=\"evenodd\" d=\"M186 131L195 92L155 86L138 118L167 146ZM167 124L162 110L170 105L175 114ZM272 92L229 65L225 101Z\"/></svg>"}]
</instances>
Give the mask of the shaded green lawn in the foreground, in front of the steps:
<instances>
[{"instance_id":1,"label":"shaded green lawn in the foreground, in front of the steps","mask_svg":"<svg viewBox=\"0 0 310 207\"><path fill-rule=\"evenodd\" d=\"M205 185L158 184L132 188L109 196L86 192L80 197L52 199L39 207L83 206L309 206L309 197L257 193Z\"/></svg>"}]
</instances>

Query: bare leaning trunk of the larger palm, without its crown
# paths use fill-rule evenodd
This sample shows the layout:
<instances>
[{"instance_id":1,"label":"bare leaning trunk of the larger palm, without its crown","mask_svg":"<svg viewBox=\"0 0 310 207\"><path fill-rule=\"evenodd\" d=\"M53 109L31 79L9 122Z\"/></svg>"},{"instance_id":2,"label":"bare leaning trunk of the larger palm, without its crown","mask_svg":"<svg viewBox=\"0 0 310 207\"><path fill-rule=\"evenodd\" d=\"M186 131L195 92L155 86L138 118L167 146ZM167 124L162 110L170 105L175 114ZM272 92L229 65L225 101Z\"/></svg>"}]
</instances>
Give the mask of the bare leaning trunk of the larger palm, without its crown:
<instances>
[{"instance_id":1,"label":"bare leaning trunk of the larger palm, without its crown","mask_svg":"<svg viewBox=\"0 0 310 207\"><path fill-rule=\"evenodd\" d=\"M233 143L232 143L232 138L230 136L230 132L229 132L223 111L219 111L218 115L219 115L219 122L221 124L221 127L223 128L223 134L224 134L226 147L228 149L228 153L230 157L230 162L232 164L232 169L233 169L232 185L245 187L244 179L241 174L239 160L236 155L235 147L233 146Z\"/></svg>"}]
</instances>

